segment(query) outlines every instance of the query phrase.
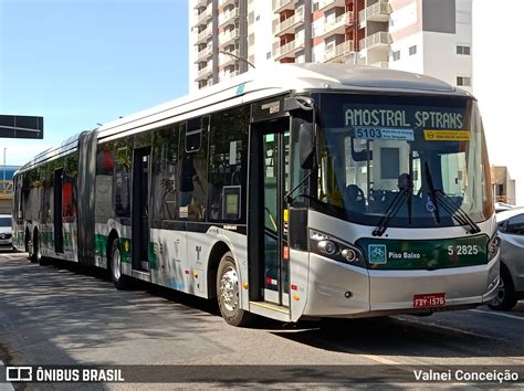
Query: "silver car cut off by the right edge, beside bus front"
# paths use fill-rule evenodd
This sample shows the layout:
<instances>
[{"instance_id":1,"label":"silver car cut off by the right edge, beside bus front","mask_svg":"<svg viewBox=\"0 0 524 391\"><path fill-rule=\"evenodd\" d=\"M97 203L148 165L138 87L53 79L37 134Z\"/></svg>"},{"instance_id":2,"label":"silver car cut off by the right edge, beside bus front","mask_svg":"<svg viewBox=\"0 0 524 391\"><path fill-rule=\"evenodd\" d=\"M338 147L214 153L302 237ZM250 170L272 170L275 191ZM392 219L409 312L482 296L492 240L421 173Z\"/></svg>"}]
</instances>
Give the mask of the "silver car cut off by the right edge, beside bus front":
<instances>
[{"instance_id":1,"label":"silver car cut off by the right edge, beside bus front","mask_svg":"<svg viewBox=\"0 0 524 391\"><path fill-rule=\"evenodd\" d=\"M499 296L489 306L507 310L524 298L524 208L499 212L496 223L501 237L501 283Z\"/></svg>"}]
</instances>

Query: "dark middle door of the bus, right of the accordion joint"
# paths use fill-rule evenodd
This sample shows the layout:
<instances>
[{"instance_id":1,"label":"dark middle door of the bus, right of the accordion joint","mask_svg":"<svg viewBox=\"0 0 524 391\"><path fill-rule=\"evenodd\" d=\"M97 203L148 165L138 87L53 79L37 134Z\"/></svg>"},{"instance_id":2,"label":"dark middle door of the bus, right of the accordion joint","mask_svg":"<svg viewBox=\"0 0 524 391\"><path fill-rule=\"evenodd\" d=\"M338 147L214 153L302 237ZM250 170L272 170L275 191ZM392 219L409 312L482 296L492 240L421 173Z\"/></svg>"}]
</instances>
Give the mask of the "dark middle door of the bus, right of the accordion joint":
<instances>
[{"instance_id":1,"label":"dark middle door of the bus, right of the accordion joint","mask_svg":"<svg viewBox=\"0 0 524 391\"><path fill-rule=\"evenodd\" d=\"M149 271L149 171L150 148L133 155L132 254L133 270Z\"/></svg>"}]
</instances>

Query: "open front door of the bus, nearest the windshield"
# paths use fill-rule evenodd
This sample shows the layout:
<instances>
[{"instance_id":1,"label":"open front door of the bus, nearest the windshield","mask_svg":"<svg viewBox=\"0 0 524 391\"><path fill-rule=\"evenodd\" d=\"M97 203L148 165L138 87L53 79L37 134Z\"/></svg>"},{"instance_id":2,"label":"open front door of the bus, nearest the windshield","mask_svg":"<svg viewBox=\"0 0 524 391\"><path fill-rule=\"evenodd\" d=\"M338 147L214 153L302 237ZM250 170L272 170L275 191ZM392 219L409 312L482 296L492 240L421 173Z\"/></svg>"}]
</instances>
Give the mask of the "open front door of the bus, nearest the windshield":
<instances>
[{"instance_id":1,"label":"open front door of the bus, nearest the windshield","mask_svg":"<svg viewBox=\"0 0 524 391\"><path fill-rule=\"evenodd\" d=\"M258 285L262 288L262 297L259 299L289 307L290 252L287 205L284 194L290 190L290 118L259 123L253 129L249 228L250 278L256 278ZM253 295L250 293L250 296Z\"/></svg>"}]
</instances>

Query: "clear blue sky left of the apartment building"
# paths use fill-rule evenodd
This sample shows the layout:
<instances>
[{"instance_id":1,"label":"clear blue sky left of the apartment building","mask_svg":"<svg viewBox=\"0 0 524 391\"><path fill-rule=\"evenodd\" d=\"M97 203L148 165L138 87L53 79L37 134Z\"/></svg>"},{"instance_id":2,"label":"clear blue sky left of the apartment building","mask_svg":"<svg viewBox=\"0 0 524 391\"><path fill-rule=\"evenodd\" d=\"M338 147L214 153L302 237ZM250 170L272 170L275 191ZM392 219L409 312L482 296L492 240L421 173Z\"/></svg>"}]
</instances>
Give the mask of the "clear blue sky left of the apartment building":
<instances>
[{"instance_id":1,"label":"clear blue sky left of the apartment building","mask_svg":"<svg viewBox=\"0 0 524 391\"><path fill-rule=\"evenodd\" d=\"M187 0L0 0L0 114L44 117L0 138L7 163L188 92Z\"/></svg>"}]
</instances>

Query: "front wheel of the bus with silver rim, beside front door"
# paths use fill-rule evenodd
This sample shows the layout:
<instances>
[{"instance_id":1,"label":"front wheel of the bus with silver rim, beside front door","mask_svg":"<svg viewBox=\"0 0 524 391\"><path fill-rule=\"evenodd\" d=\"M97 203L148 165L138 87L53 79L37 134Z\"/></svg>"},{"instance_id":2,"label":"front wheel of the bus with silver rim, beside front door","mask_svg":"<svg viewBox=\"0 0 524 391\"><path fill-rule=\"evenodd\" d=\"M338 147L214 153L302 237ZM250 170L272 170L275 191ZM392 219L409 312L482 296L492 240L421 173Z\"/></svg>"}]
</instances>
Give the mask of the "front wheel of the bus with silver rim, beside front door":
<instances>
[{"instance_id":1,"label":"front wheel of the bus with silver rim, beside front door","mask_svg":"<svg viewBox=\"0 0 524 391\"><path fill-rule=\"evenodd\" d=\"M233 255L228 252L220 260L217 273L217 296L220 314L231 326L245 326L253 316L240 308L240 284Z\"/></svg>"}]
</instances>

